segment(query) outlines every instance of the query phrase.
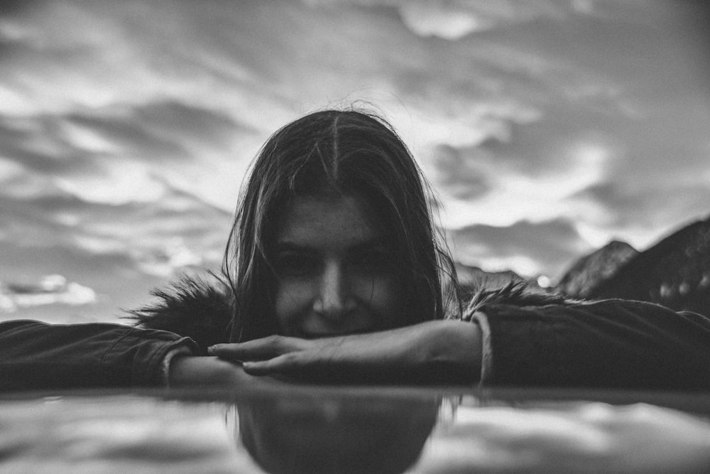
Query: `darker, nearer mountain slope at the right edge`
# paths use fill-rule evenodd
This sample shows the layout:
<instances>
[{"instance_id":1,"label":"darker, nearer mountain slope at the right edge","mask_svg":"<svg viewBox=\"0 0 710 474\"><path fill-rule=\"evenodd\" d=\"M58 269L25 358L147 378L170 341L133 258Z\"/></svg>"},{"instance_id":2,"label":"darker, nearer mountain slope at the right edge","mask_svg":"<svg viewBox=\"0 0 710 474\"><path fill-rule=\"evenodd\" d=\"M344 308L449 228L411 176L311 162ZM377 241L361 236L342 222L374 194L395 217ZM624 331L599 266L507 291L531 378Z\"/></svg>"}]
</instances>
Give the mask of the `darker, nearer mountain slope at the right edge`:
<instances>
[{"instance_id":1,"label":"darker, nearer mountain slope at the right edge","mask_svg":"<svg viewBox=\"0 0 710 474\"><path fill-rule=\"evenodd\" d=\"M710 316L710 216L630 259L589 297L651 301Z\"/></svg>"}]
</instances>

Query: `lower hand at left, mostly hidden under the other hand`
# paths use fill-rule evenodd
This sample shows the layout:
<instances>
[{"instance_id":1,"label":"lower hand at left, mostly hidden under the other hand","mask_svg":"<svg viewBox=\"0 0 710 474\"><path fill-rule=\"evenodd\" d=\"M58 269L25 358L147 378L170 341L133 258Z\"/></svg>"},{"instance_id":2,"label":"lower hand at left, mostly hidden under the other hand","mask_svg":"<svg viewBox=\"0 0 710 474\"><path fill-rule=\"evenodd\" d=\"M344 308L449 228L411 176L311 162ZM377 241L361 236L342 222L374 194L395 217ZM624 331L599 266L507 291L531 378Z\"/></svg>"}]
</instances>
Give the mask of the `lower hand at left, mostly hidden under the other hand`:
<instances>
[{"instance_id":1,"label":"lower hand at left, mostly hidden under the other hand","mask_svg":"<svg viewBox=\"0 0 710 474\"><path fill-rule=\"evenodd\" d=\"M170 388L188 387L244 387L248 384L278 383L271 377L253 377L239 365L217 357L177 356L170 361Z\"/></svg>"}]
</instances>

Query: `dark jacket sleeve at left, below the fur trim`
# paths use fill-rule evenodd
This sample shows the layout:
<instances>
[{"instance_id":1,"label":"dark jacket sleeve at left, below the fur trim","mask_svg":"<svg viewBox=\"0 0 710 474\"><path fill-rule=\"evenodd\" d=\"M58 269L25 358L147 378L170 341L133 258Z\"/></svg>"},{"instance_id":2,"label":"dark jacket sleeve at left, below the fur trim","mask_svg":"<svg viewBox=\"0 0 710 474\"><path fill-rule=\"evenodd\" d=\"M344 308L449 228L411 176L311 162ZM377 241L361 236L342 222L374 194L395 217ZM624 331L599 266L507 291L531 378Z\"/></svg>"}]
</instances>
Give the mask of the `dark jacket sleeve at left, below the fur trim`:
<instances>
[{"instance_id":1,"label":"dark jacket sleeve at left, below the fur trim","mask_svg":"<svg viewBox=\"0 0 710 474\"><path fill-rule=\"evenodd\" d=\"M190 338L89 323L0 323L0 390L150 387L167 384L168 360L193 353Z\"/></svg>"}]
</instances>

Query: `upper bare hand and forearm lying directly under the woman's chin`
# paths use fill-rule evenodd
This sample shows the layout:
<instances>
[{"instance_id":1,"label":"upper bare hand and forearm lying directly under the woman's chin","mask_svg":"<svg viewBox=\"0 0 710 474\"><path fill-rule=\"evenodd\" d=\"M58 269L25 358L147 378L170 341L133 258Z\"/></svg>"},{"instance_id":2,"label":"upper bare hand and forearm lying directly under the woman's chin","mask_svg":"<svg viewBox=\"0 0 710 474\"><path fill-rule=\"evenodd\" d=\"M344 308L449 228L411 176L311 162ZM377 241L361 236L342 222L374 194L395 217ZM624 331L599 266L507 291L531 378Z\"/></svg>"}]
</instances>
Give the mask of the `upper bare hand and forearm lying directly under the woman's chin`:
<instances>
[{"instance_id":1,"label":"upper bare hand and forearm lying directly under the woman's chin","mask_svg":"<svg viewBox=\"0 0 710 474\"><path fill-rule=\"evenodd\" d=\"M429 321L320 339L273 335L217 344L209 354L244 361L250 375L314 382L470 384L480 377L481 331L474 323Z\"/></svg>"}]
</instances>

